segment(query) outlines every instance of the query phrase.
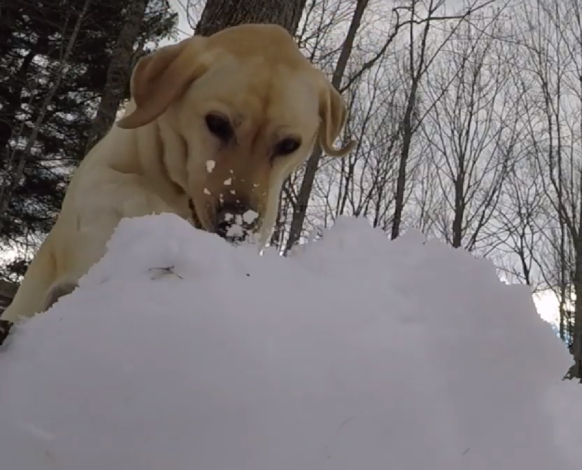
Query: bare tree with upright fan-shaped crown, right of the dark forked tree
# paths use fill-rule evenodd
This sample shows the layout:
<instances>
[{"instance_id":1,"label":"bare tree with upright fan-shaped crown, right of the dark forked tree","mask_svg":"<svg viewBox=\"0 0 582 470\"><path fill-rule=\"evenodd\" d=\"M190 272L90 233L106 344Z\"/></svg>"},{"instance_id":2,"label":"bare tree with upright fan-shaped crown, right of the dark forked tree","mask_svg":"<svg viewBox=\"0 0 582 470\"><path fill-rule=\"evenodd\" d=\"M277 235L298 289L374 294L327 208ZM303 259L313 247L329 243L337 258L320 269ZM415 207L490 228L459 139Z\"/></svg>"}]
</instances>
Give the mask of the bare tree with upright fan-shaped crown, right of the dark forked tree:
<instances>
[{"instance_id":1,"label":"bare tree with upright fan-shaped crown, right of the dark forked tree","mask_svg":"<svg viewBox=\"0 0 582 470\"><path fill-rule=\"evenodd\" d=\"M425 80L434 102L423 125L427 164L449 214L437 225L448 243L469 251L491 251L498 242L498 202L522 127L514 49L496 39L500 26L496 17L464 24Z\"/></svg>"}]
</instances>

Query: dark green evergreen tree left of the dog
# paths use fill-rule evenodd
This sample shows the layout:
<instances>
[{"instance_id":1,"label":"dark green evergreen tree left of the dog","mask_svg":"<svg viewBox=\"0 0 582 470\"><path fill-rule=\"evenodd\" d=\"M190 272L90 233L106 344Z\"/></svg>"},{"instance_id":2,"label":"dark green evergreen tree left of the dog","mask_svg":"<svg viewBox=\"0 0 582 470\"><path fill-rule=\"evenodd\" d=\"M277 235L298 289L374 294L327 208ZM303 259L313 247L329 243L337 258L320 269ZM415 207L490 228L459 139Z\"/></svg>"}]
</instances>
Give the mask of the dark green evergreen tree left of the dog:
<instances>
[{"instance_id":1,"label":"dark green evergreen tree left of the dog","mask_svg":"<svg viewBox=\"0 0 582 470\"><path fill-rule=\"evenodd\" d=\"M30 245L54 223L70 174L85 154L131 4L0 0L0 207L6 205L0 212L0 250L17 258L3 260L0 276L22 273L34 252ZM167 0L149 0L142 15L129 41L127 70L175 31L176 15ZM126 84L119 101L127 98ZM22 177L15 180L23 162Z\"/></svg>"}]
</instances>

